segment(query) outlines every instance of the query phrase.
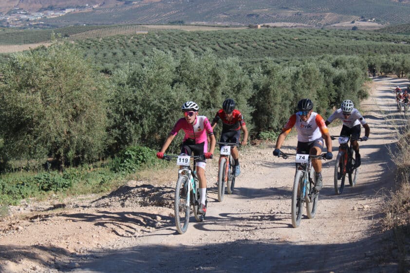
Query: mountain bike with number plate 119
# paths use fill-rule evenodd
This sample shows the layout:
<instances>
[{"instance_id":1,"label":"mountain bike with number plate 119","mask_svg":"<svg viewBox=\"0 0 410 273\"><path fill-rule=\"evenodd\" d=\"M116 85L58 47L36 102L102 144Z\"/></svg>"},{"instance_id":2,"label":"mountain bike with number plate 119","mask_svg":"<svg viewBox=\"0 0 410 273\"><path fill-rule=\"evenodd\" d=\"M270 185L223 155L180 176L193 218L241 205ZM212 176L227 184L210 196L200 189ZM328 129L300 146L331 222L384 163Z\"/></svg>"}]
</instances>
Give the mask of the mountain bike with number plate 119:
<instances>
[{"instance_id":1,"label":"mountain bike with number plate 119","mask_svg":"<svg viewBox=\"0 0 410 273\"><path fill-rule=\"evenodd\" d=\"M175 226L180 234L184 234L188 229L191 206L197 222L202 222L205 219L205 214L198 213L200 194L199 180L196 175L196 162L205 159L205 156L164 155L165 160L170 161L172 158L177 158L177 165L181 167L178 170L178 181L175 187ZM194 159L192 168L190 166L191 158Z\"/></svg>"}]
</instances>

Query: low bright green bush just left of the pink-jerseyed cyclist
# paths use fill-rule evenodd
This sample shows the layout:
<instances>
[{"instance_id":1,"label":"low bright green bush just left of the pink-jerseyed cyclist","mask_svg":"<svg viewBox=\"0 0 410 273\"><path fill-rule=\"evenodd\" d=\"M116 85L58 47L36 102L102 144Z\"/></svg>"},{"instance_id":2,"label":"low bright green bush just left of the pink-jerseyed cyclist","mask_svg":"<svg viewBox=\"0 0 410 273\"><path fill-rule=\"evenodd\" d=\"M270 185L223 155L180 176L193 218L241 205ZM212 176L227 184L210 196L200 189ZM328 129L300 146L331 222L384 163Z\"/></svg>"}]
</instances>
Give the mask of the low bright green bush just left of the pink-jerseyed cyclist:
<instances>
[{"instance_id":1,"label":"low bright green bush just left of the pink-jerseyed cyclist","mask_svg":"<svg viewBox=\"0 0 410 273\"><path fill-rule=\"evenodd\" d=\"M156 151L141 146L130 146L114 158L111 170L117 173L132 173L143 165L153 165L157 161Z\"/></svg>"}]
</instances>

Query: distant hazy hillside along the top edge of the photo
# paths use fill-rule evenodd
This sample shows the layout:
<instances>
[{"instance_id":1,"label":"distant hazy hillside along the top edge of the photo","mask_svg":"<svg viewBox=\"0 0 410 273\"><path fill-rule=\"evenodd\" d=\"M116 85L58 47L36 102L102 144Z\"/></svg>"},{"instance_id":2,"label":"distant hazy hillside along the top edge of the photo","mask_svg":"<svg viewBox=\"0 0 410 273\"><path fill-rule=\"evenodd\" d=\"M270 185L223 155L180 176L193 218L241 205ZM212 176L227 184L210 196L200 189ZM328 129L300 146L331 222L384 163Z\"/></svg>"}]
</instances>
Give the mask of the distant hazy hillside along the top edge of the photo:
<instances>
[{"instance_id":1,"label":"distant hazy hillside along the top edge of the photo","mask_svg":"<svg viewBox=\"0 0 410 273\"><path fill-rule=\"evenodd\" d=\"M94 6L94 7L93 7ZM0 11L75 8L45 26L111 24L219 24L269 23L327 27L353 21L384 26L410 23L408 0L2 0ZM87 8L84 8L87 7Z\"/></svg>"}]
</instances>

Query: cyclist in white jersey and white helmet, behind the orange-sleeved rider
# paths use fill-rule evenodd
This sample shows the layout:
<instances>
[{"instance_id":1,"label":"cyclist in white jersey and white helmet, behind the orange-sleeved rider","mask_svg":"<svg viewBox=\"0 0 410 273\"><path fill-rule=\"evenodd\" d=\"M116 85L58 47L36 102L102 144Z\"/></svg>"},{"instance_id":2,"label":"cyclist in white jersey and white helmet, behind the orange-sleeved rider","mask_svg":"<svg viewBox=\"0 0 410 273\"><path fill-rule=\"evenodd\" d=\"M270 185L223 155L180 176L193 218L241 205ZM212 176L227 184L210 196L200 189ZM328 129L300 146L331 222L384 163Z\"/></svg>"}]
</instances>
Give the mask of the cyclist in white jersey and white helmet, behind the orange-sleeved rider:
<instances>
[{"instance_id":1,"label":"cyclist in white jersey and white helmet, behind the orange-sleeved rider","mask_svg":"<svg viewBox=\"0 0 410 273\"><path fill-rule=\"evenodd\" d=\"M362 141L367 141L369 139L370 127L366 123L366 120L362 114L354 108L353 102L351 100L344 100L339 109L337 109L327 120L326 125L331 124L336 118L343 122L342 130L340 131L341 136L350 136L351 142L353 144L353 149L356 155L356 161L354 163L355 167L360 166L361 159L359 153L359 144L357 139L360 137L361 127L364 127L364 137Z\"/></svg>"}]
</instances>

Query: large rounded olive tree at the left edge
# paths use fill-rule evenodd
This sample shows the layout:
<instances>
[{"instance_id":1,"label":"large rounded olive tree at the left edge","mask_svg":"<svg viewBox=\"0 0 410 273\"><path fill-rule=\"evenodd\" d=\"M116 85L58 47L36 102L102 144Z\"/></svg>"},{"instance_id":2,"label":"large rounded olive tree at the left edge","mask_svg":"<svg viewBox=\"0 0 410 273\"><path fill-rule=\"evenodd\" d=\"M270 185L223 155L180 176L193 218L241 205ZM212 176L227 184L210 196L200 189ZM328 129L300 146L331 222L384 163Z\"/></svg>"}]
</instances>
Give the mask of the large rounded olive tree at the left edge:
<instances>
[{"instance_id":1,"label":"large rounded olive tree at the left edge","mask_svg":"<svg viewBox=\"0 0 410 273\"><path fill-rule=\"evenodd\" d=\"M68 42L11 55L1 68L4 157L90 162L105 149L108 84Z\"/></svg>"}]
</instances>

